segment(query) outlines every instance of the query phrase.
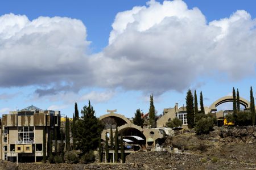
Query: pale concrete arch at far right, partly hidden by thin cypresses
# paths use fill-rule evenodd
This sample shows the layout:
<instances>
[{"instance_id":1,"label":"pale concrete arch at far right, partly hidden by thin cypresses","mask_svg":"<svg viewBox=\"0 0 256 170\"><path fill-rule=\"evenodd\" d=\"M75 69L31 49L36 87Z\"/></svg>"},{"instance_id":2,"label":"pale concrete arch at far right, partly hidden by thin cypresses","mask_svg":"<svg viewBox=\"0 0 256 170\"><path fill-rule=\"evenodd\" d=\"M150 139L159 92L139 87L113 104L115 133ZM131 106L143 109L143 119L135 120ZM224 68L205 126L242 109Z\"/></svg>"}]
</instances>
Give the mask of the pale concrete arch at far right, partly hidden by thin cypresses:
<instances>
[{"instance_id":1,"label":"pale concrete arch at far right, partly hidden by thin cypresses","mask_svg":"<svg viewBox=\"0 0 256 170\"><path fill-rule=\"evenodd\" d=\"M220 99L214 101L212 105L210 105L209 113L212 113L213 111L217 111L216 107L218 105L220 105L222 103L226 103L226 102L232 102L232 101L233 101L233 96L221 97ZM242 97L240 97L240 104L242 104L245 107L245 109L250 108L250 102L247 101L246 99L243 99Z\"/></svg>"}]
</instances>

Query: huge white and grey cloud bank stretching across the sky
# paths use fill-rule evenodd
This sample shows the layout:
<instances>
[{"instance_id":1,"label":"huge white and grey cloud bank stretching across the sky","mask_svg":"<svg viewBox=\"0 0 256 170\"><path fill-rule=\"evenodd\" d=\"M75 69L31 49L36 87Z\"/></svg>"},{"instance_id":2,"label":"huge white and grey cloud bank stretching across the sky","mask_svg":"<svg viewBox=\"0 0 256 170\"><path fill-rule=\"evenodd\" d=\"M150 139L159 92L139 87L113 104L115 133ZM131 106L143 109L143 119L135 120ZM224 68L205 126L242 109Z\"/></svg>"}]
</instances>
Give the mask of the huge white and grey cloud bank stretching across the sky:
<instances>
[{"instance_id":1,"label":"huge white and grey cloud bank stretching across the sky","mask_svg":"<svg viewBox=\"0 0 256 170\"><path fill-rule=\"evenodd\" d=\"M163 94L200 77L255 77L256 20L243 10L208 23L183 1L150 1L119 12L108 46L90 56L80 20L7 14L0 25L0 86L36 85L42 96L86 87Z\"/></svg>"}]
</instances>

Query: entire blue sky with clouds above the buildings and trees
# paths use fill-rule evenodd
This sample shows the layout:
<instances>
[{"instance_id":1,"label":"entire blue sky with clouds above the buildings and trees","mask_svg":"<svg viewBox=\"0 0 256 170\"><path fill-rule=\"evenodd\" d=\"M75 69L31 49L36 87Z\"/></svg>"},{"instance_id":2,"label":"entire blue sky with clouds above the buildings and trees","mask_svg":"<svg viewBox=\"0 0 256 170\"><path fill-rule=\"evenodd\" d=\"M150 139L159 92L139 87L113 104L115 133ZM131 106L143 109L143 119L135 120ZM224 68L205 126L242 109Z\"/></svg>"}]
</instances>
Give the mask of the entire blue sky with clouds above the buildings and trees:
<instances>
[{"instance_id":1,"label":"entire blue sky with clouds above the buildings and trees","mask_svg":"<svg viewBox=\"0 0 256 170\"><path fill-rule=\"evenodd\" d=\"M91 101L133 117L256 89L255 1L1 1L0 117ZM255 91L255 90L254 90ZM254 94L255 96L255 94ZM218 109L230 109L224 104Z\"/></svg>"}]
</instances>

